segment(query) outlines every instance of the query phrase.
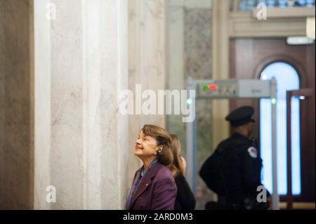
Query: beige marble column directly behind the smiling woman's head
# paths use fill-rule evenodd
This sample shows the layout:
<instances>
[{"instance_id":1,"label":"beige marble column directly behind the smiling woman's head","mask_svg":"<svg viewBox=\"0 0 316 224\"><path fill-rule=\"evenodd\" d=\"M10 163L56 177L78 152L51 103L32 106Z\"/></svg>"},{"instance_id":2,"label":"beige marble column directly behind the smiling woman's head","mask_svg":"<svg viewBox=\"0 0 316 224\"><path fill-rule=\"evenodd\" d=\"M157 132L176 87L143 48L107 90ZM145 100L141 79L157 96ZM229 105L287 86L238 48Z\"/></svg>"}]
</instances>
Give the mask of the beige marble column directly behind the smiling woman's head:
<instances>
[{"instance_id":1,"label":"beige marble column directly behind the smiling woman's head","mask_svg":"<svg viewBox=\"0 0 316 224\"><path fill-rule=\"evenodd\" d=\"M166 89L166 0L129 0L129 89ZM129 117L129 185L140 161L133 146L144 124L166 126L164 115Z\"/></svg>"}]
</instances>

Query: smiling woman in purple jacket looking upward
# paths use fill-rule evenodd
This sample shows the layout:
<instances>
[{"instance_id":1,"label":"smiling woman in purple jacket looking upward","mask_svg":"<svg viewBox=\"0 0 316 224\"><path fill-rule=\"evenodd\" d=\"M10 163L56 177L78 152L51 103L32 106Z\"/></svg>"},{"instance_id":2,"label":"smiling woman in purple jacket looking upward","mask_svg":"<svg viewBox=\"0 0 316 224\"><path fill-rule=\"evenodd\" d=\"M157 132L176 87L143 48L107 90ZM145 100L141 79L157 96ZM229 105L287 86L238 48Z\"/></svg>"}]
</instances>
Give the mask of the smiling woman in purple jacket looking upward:
<instances>
[{"instance_id":1,"label":"smiling woman in purple jacket looking upward","mask_svg":"<svg viewBox=\"0 0 316 224\"><path fill-rule=\"evenodd\" d=\"M145 125L134 153L143 166L135 173L125 209L173 210L177 187L168 169L173 161L169 132L159 126Z\"/></svg>"}]
</instances>

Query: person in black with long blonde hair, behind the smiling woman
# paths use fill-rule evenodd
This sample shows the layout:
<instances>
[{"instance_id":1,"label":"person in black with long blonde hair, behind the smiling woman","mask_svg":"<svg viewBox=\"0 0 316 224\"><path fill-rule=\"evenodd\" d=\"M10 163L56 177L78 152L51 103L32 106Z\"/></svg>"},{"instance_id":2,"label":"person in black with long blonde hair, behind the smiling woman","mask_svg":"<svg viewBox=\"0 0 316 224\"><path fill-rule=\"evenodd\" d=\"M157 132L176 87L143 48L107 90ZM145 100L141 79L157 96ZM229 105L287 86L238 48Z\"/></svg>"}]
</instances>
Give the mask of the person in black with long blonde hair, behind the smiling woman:
<instances>
[{"instance_id":1,"label":"person in black with long blonde hair, behind the smiling woman","mask_svg":"<svg viewBox=\"0 0 316 224\"><path fill-rule=\"evenodd\" d=\"M173 162L169 165L169 169L178 188L174 210L193 210L195 209L195 196L185 180L185 159L180 157L180 140L175 135L171 135L171 151Z\"/></svg>"}]
</instances>

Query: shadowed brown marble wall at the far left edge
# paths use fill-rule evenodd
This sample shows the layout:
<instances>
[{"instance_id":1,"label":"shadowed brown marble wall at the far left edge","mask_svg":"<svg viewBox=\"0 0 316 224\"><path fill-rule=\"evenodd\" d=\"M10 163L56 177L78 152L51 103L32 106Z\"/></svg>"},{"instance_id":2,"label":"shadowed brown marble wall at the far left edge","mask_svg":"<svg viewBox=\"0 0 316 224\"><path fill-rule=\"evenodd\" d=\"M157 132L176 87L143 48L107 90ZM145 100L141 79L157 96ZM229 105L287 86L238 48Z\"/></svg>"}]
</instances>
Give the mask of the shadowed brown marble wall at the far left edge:
<instances>
[{"instance_id":1,"label":"shadowed brown marble wall at the far left edge","mask_svg":"<svg viewBox=\"0 0 316 224\"><path fill-rule=\"evenodd\" d=\"M0 0L0 209L32 209L32 1Z\"/></svg>"}]
</instances>

